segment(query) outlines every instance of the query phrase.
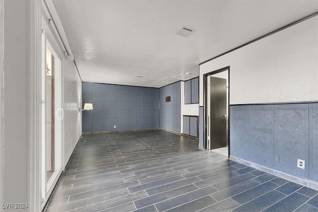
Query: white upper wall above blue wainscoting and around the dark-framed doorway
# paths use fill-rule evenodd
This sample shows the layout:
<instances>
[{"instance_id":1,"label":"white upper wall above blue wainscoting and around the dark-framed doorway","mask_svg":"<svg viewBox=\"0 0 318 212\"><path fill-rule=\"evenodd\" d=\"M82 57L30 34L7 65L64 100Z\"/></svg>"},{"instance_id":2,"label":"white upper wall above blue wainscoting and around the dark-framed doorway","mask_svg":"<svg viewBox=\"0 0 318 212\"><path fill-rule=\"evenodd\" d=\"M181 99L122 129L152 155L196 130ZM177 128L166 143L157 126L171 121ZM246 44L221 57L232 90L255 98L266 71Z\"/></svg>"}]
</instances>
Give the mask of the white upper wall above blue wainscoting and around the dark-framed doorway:
<instances>
[{"instance_id":1,"label":"white upper wall above blue wainscoting and around the dark-framed doorway","mask_svg":"<svg viewBox=\"0 0 318 212\"><path fill-rule=\"evenodd\" d=\"M230 66L230 104L318 100L318 16L200 66L203 74Z\"/></svg>"}]
</instances>

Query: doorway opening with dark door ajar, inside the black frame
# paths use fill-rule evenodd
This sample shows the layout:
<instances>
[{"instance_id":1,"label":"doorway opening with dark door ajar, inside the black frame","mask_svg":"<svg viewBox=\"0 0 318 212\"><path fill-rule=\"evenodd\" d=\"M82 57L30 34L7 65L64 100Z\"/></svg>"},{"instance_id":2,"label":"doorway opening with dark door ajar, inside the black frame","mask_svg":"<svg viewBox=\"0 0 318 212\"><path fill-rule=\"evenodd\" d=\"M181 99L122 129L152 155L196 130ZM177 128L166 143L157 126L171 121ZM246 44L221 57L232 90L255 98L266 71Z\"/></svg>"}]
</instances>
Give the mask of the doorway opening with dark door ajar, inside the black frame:
<instances>
[{"instance_id":1,"label":"doorway opening with dark door ajar, inside the black frame","mask_svg":"<svg viewBox=\"0 0 318 212\"><path fill-rule=\"evenodd\" d=\"M230 156L230 67L204 74L204 149Z\"/></svg>"}]
</instances>

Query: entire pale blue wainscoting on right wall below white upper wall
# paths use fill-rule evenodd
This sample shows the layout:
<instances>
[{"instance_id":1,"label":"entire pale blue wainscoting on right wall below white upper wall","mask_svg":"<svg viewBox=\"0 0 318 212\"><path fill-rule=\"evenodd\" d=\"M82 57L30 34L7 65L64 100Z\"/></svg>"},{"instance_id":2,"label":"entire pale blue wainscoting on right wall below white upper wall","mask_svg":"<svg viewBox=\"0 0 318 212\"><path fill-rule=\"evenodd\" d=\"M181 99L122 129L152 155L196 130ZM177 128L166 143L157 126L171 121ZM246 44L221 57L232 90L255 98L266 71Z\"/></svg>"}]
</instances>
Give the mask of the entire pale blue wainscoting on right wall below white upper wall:
<instances>
[{"instance_id":1,"label":"entire pale blue wainscoting on right wall below white upper wall","mask_svg":"<svg viewBox=\"0 0 318 212\"><path fill-rule=\"evenodd\" d=\"M231 105L230 115L232 156L318 182L318 103Z\"/></svg>"}]
</instances>

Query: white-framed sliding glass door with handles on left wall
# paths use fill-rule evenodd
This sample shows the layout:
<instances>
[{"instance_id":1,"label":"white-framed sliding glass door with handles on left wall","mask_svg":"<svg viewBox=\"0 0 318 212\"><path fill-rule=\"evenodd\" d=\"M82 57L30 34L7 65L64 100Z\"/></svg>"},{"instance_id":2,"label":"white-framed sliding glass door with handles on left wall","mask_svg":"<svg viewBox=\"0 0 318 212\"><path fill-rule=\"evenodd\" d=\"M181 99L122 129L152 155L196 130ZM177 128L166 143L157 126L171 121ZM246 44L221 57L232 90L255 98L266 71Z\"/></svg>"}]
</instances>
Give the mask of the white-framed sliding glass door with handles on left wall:
<instances>
[{"instance_id":1,"label":"white-framed sliding glass door with handles on left wall","mask_svg":"<svg viewBox=\"0 0 318 212\"><path fill-rule=\"evenodd\" d=\"M42 203L45 203L62 171L61 150L61 59L47 39L42 36L41 71L41 187ZM42 206L43 207L43 206Z\"/></svg>"}]
</instances>

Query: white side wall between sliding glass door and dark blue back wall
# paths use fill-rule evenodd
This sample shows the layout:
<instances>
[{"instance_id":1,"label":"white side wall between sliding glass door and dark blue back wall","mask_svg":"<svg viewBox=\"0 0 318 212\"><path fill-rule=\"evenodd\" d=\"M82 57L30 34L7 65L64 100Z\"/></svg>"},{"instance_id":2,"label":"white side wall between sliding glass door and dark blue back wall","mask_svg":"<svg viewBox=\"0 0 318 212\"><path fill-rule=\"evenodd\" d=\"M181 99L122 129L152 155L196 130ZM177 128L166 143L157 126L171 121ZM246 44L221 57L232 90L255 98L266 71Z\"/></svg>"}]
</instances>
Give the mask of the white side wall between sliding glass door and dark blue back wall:
<instances>
[{"instance_id":1,"label":"white side wall between sliding glass door and dark blue back wall","mask_svg":"<svg viewBox=\"0 0 318 212\"><path fill-rule=\"evenodd\" d=\"M62 61L64 80L64 167L81 136L81 79L73 61Z\"/></svg>"}]
</instances>

